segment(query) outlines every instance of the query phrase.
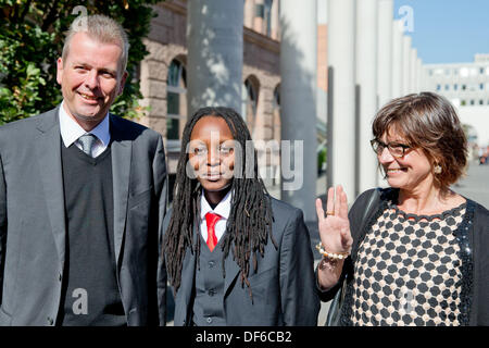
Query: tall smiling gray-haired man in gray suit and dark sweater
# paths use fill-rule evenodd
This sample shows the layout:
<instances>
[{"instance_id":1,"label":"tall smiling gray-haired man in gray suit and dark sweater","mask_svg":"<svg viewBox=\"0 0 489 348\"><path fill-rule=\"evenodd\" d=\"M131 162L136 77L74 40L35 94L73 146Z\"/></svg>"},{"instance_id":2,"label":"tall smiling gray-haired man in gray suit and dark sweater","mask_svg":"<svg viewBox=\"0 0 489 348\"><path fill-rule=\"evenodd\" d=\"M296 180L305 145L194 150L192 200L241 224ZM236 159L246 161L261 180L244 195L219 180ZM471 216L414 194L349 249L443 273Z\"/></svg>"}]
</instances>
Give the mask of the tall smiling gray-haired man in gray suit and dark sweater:
<instances>
[{"instance_id":1,"label":"tall smiling gray-haired man in gray suit and dark sweater","mask_svg":"<svg viewBox=\"0 0 489 348\"><path fill-rule=\"evenodd\" d=\"M113 20L78 17L58 60L61 105L0 128L0 325L164 321L163 141L109 113L127 52Z\"/></svg>"}]
</instances>

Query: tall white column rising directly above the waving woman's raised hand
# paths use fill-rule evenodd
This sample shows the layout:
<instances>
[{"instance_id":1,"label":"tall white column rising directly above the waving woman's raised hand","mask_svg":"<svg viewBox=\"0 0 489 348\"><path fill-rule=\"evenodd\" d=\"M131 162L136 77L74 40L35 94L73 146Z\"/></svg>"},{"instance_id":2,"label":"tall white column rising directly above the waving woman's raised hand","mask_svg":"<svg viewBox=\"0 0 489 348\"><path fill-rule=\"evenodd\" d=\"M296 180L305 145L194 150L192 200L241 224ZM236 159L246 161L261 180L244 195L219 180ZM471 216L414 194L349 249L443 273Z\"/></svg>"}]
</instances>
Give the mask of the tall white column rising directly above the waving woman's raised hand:
<instances>
[{"instance_id":1,"label":"tall white column rising directly above the waving woman's raised hand","mask_svg":"<svg viewBox=\"0 0 489 348\"><path fill-rule=\"evenodd\" d=\"M327 186L355 199L355 1L328 1Z\"/></svg>"}]
</instances>

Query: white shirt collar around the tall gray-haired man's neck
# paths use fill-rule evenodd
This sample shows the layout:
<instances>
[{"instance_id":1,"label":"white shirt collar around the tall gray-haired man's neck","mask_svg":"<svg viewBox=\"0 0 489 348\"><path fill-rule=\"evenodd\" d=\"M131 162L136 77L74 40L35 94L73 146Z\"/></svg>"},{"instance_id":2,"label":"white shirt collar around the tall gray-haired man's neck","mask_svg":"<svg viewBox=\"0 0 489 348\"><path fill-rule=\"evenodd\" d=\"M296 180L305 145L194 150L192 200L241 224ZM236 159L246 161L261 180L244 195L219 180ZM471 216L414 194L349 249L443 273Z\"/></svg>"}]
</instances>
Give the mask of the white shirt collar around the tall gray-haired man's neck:
<instances>
[{"instance_id":1,"label":"white shirt collar around the tall gray-haired man's neck","mask_svg":"<svg viewBox=\"0 0 489 348\"><path fill-rule=\"evenodd\" d=\"M85 132L85 129L67 114L64 108L63 101L60 107L60 132L63 144L67 148L75 142L76 147L82 150L82 145L76 140L84 134L87 134L87 132ZM97 137L97 140L91 148L91 157L96 158L106 149L111 141L109 113L106 113L105 117L97 125L97 127L88 133L93 134Z\"/></svg>"}]
</instances>

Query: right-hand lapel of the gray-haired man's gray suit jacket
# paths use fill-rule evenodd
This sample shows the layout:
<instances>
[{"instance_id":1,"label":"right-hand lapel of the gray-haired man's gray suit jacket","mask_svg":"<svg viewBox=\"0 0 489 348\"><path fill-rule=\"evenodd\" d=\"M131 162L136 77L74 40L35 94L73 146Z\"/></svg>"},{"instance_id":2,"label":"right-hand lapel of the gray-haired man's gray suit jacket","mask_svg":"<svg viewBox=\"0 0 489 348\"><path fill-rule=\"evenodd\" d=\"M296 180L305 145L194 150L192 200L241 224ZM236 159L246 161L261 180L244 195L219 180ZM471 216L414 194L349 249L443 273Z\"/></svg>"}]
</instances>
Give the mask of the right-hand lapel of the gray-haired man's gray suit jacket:
<instances>
[{"instance_id":1,"label":"right-hand lapel of the gray-haired man's gray suit jacket","mask_svg":"<svg viewBox=\"0 0 489 348\"><path fill-rule=\"evenodd\" d=\"M130 137L124 136L125 132L123 127L120 126L117 116L111 114L110 117L112 139L112 182L114 195L114 249L115 261L118 265L126 226L133 141Z\"/></svg>"}]
</instances>

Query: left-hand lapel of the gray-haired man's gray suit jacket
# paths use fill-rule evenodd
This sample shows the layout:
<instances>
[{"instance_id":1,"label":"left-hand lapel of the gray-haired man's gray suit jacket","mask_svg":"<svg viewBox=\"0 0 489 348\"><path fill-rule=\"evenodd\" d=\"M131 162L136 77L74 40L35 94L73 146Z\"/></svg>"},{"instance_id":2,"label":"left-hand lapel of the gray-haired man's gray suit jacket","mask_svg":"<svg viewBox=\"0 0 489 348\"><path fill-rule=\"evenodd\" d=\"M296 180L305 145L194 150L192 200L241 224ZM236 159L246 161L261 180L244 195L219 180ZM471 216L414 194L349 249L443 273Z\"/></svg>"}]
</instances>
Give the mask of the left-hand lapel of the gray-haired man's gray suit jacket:
<instances>
[{"instance_id":1,"label":"left-hand lapel of the gray-haired man's gray suit jacket","mask_svg":"<svg viewBox=\"0 0 489 348\"><path fill-rule=\"evenodd\" d=\"M45 189L48 215L62 269L65 258L65 213L59 107L38 117L35 139L40 182ZM26 169L28 170L28 169Z\"/></svg>"}]
</instances>

